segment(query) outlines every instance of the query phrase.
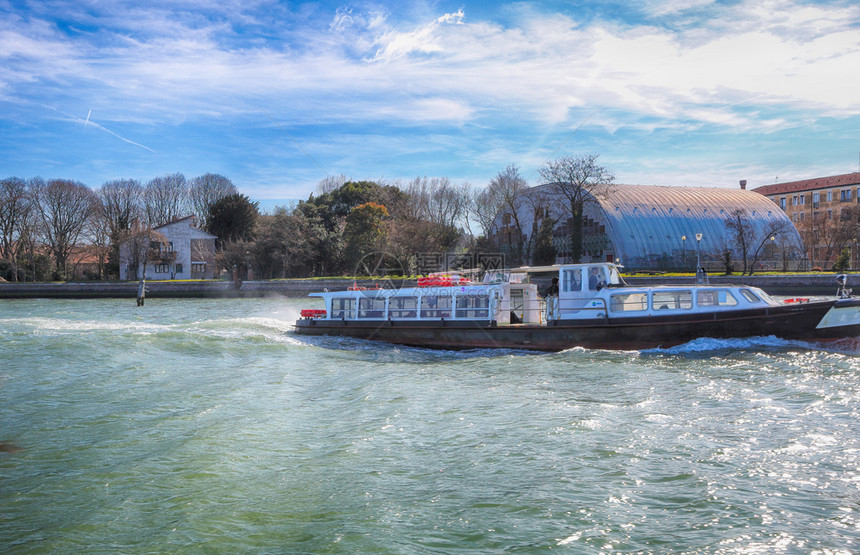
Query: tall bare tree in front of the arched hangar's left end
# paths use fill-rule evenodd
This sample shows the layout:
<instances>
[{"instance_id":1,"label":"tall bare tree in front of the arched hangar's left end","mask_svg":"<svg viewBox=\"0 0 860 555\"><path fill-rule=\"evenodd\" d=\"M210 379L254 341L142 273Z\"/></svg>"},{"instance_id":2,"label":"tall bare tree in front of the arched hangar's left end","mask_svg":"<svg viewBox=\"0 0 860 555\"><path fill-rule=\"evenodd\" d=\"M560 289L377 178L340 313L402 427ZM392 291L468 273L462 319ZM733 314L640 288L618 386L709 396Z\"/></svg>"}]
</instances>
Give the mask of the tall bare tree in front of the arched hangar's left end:
<instances>
[{"instance_id":1,"label":"tall bare tree in front of the arched hangar's left end","mask_svg":"<svg viewBox=\"0 0 860 555\"><path fill-rule=\"evenodd\" d=\"M583 156L562 156L551 160L540 169L544 183L555 184L558 194L567 203L570 213L570 258L572 262L582 259L582 238L585 207L596 198L610 191L615 176L605 167L597 164L596 154Z\"/></svg>"}]
</instances>

